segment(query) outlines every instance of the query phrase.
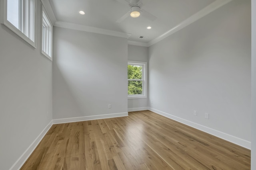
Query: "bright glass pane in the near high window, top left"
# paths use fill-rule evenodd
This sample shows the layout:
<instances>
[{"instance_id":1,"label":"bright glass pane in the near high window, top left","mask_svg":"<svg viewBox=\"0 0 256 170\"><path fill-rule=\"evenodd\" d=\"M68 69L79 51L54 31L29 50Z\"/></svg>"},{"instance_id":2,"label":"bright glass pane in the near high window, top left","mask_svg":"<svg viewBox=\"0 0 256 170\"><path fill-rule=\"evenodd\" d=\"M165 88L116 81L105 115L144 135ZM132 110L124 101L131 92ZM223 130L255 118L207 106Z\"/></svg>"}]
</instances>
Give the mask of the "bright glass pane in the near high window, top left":
<instances>
[{"instance_id":1,"label":"bright glass pane in the near high window, top left","mask_svg":"<svg viewBox=\"0 0 256 170\"><path fill-rule=\"evenodd\" d=\"M19 0L7 1L7 20L19 29Z\"/></svg>"}]
</instances>

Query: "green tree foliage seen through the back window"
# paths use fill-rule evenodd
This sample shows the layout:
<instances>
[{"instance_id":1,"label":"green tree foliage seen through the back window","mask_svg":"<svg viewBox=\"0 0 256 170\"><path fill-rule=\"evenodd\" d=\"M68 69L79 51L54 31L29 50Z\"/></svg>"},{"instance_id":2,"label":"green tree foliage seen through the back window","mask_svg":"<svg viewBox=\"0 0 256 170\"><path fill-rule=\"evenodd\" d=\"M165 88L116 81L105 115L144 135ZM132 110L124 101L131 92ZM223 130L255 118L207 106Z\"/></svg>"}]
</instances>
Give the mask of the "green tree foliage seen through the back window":
<instances>
[{"instance_id":1,"label":"green tree foliage seen through the back window","mask_svg":"<svg viewBox=\"0 0 256 170\"><path fill-rule=\"evenodd\" d=\"M133 79L133 80L129 80L129 79ZM128 65L128 94L142 94L141 80L142 80L142 66Z\"/></svg>"}]
</instances>

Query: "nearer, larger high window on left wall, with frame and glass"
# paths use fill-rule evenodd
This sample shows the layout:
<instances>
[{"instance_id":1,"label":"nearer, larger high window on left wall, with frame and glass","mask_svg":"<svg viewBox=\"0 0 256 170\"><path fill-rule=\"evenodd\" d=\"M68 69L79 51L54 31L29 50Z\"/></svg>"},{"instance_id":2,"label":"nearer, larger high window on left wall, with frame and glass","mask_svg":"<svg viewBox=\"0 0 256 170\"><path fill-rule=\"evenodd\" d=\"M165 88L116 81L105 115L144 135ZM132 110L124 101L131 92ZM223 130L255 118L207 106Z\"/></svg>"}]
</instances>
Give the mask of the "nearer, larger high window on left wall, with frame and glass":
<instances>
[{"instance_id":1,"label":"nearer, larger high window on left wall, with frame and glass","mask_svg":"<svg viewBox=\"0 0 256 170\"><path fill-rule=\"evenodd\" d=\"M36 48L36 0L1 2L1 23Z\"/></svg>"}]
</instances>

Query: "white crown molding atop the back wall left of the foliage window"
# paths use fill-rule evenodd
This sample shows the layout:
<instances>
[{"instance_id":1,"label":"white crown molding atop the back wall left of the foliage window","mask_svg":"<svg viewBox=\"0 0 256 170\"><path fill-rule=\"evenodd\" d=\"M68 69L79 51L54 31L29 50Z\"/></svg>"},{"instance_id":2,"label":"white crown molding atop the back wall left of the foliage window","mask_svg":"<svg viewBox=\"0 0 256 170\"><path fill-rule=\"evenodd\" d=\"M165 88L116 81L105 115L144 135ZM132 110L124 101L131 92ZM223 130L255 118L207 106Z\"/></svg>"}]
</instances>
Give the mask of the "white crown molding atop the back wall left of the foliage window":
<instances>
[{"instance_id":1,"label":"white crown molding atop the back wall left of the foliage window","mask_svg":"<svg viewBox=\"0 0 256 170\"><path fill-rule=\"evenodd\" d=\"M122 33L122 32L118 32L118 31L112 31L112 30L96 28L96 27L89 27L89 26L85 26L85 25L79 25L79 24L62 22L62 21L56 21L54 23L54 26L68 28L68 29L75 29L75 30L79 30L79 31L87 31L87 32L92 32L92 33L112 35L112 36L122 37L122 38L129 38L131 36L131 34L129 34L129 33Z\"/></svg>"}]
</instances>

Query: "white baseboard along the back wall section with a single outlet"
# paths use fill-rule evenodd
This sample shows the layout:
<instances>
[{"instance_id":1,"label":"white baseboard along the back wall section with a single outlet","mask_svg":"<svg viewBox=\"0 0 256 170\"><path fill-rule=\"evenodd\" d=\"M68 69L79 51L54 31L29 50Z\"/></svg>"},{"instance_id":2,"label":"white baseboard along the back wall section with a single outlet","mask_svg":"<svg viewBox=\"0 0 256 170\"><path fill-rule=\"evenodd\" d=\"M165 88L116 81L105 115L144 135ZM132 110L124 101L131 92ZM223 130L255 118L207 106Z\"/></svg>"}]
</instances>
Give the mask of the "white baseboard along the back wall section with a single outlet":
<instances>
[{"instance_id":1,"label":"white baseboard along the back wall section with a single outlet","mask_svg":"<svg viewBox=\"0 0 256 170\"><path fill-rule=\"evenodd\" d=\"M112 113L106 115L93 115L93 116L83 116L83 117L71 117L71 118L64 118L64 119L53 119L53 124L60 124L60 123L71 123L77 121L87 121L87 120L96 120L96 119L106 119L112 117L124 117L128 116L128 112L124 113Z\"/></svg>"}]
</instances>

